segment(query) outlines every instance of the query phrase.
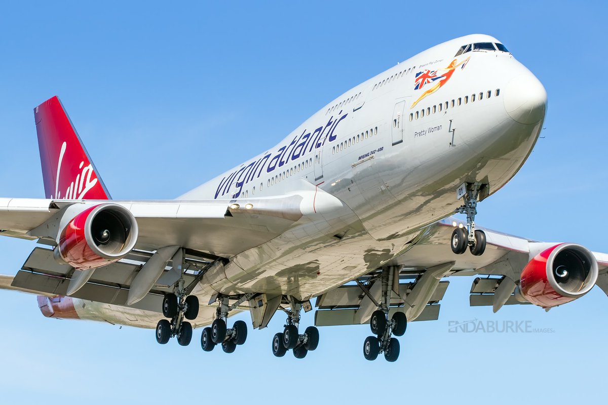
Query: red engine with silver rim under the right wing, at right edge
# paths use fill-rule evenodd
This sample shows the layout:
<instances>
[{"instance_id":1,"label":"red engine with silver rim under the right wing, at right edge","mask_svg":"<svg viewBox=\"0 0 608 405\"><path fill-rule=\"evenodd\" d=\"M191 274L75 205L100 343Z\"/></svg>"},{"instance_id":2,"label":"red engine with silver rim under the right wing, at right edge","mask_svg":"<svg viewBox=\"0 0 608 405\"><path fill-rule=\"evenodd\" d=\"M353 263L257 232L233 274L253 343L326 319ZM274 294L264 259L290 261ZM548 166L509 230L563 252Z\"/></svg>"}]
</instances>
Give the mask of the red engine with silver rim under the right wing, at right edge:
<instances>
[{"instance_id":1,"label":"red engine with silver rim under the right wing, at right edge","mask_svg":"<svg viewBox=\"0 0 608 405\"><path fill-rule=\"evenodd\" d=\"M551 308L588 293L597 279L593 254L581 245L561 243L530 260L523 268L519 291L532 304Z\"/></svg>"}]
</instances>

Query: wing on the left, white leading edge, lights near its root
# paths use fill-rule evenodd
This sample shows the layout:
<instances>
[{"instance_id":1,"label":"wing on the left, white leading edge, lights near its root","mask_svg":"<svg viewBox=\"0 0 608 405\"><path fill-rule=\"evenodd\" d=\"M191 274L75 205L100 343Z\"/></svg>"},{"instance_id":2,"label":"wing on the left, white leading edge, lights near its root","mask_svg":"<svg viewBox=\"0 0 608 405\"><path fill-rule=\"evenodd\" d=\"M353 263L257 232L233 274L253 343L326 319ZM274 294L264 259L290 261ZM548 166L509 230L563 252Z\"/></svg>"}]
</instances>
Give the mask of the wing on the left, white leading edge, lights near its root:
<instances>
[{"instance_id":1,"label":"wing on the left, white leading edge, lights near its root","mask_svg":"<svg viewBox=\"0 0 608 405\"><path fill-rule=\"evenodd\" d=\"M231 257L282 234L302 217L306 192L299 195L252 199L235 204L229 200L120 201L137 220L135 247L154 251L181 246L221 257ZM53 237L45 223L58 219L66 209L95 206L106 200L0 199L0 234L38 239ZM250 209L245 208L250 205Z\"/></svg>"}]
</instances>

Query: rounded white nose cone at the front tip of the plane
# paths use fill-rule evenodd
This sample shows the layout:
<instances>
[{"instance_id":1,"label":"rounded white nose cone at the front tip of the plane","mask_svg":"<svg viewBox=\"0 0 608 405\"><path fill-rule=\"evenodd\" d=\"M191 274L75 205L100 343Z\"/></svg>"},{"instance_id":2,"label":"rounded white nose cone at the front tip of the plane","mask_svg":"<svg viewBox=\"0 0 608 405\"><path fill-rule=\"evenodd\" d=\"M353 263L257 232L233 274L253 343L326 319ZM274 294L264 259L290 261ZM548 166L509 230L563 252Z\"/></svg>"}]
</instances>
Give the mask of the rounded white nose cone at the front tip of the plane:
<instances>
[{"instance_id":1,"label":"rounded white nose cone at the front tip of the plane","mask_svg":"<svg viewBox=\"0 0 608 405\"><path fill-rule=\"evenodd\" d=\"M536 124L545 117L547 92L531 73L514 77L505 87L506 112L521 124Z\"/></svg>"}]
</instances>

